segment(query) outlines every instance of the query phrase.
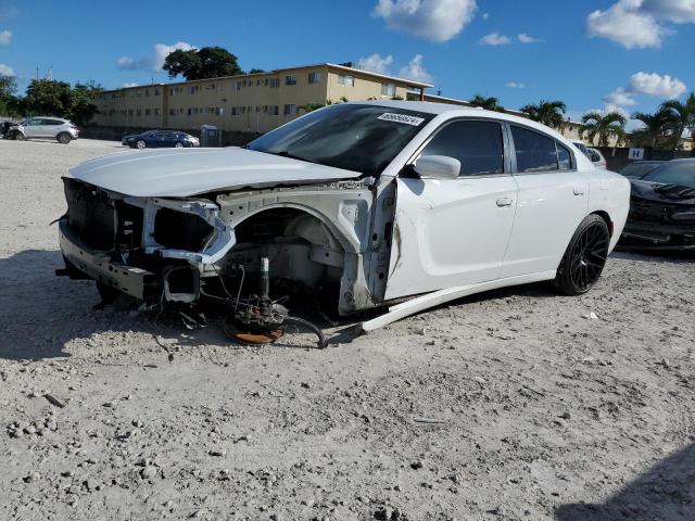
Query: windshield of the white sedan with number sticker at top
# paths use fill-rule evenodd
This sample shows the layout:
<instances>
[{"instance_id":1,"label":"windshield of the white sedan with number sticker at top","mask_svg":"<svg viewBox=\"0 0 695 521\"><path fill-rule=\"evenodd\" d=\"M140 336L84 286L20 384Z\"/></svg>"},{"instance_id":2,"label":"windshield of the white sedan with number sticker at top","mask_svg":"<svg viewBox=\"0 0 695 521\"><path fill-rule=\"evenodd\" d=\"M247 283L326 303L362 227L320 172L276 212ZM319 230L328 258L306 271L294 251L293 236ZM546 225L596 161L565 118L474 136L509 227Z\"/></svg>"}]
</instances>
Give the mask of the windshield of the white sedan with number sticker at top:
<instances>
[{"instance_id":1,"label":"windshield of the white sedan with number sticker at top","mask_svg":"<svg viewBox=\"0 0 695 521\"><path fill-rule=\"evenodd\" d=\"M393 106L341 103L288 123L248 148L377 175L433 117Z\"/></svg>"}]
</instances>

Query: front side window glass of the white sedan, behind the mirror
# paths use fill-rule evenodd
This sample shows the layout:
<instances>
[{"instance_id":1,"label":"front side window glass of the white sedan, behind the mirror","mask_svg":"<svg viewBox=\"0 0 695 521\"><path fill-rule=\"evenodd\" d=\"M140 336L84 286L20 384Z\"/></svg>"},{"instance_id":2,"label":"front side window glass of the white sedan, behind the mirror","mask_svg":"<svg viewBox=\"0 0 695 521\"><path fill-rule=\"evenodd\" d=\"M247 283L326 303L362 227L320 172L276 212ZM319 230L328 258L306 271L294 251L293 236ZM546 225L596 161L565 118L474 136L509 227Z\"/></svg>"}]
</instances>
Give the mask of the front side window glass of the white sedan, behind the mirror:
<instances>
[{"instance_id":1,"label":"front side window glass of the white sedan, behind the mirror","mask_svg":"<svg viewBox=\"0 0 695 521\"><path fill-rule=\"evenodd\" d=\"M460 161L462 176L504 173L502 127L494 122L450 123L434 135L420 155L446 155Z\"/></svg>"}]
</instances>

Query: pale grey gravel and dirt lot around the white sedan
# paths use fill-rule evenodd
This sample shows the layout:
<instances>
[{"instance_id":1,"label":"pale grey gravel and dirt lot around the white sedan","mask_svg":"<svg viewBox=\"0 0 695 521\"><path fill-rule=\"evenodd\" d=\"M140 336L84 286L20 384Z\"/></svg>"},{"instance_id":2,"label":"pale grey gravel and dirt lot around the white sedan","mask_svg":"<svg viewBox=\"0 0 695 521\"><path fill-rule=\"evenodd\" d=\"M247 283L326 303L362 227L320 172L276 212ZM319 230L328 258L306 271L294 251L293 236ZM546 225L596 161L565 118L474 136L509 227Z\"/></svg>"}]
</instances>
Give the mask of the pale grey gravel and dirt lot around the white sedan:
<instances>
[{"instance_id":1,"label":"pale grey gravel and dirt lot around the white sedan","mask_svg":"<svg viewBox=\"0 0 695 521\"><path fill-rule=\"evenodd\" d=\"M0 519L695 519L692 256L239 347L53 276L60 176L119 149L0 141Z\"/></svg>"}]
</instances>

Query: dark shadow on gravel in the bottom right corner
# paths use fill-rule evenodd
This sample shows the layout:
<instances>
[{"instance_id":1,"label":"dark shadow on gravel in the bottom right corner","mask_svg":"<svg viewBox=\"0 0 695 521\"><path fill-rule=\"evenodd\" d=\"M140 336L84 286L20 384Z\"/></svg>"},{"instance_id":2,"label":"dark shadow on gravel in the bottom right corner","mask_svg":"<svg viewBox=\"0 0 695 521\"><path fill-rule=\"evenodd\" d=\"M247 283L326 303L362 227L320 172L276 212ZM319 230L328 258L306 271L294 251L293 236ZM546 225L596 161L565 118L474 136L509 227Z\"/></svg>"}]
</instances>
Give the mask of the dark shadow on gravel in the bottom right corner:
<instances>
[{"instance_id":1,"label":"dark shadow on gravel in the bottom right corner","mask_svg":"<svg viewBox=\"0 0 695 521\"><path fill-rule=\"evenodd\" d=\"M563 505L557 521L692 521L695 444L659 461L603 504Z\"/></svg>"}]
</instances>

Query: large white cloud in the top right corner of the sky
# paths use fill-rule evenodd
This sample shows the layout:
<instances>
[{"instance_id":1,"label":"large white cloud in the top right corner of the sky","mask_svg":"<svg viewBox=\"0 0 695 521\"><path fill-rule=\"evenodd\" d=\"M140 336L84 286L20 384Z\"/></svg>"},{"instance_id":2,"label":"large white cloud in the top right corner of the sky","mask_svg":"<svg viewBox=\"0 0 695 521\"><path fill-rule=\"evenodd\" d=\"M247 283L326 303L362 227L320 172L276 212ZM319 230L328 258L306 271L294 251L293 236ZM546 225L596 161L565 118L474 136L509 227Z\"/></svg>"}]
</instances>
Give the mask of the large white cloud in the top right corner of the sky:
<instances>
[{"instance_id":1,"label":"large white cloud in the top right corner of the sky","mask_svg":"<svg viewBox=\"0 0 695 521\"><path fill-rule=\"evenodd\" d=\"M695 0L618 0L589 14L586 34L626 49L658 48L673 33L669 23L695 23Z\"/></svg>"}]
</instances>

